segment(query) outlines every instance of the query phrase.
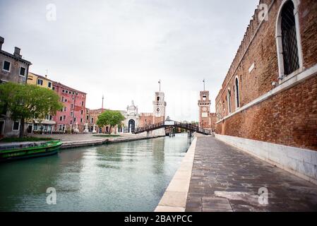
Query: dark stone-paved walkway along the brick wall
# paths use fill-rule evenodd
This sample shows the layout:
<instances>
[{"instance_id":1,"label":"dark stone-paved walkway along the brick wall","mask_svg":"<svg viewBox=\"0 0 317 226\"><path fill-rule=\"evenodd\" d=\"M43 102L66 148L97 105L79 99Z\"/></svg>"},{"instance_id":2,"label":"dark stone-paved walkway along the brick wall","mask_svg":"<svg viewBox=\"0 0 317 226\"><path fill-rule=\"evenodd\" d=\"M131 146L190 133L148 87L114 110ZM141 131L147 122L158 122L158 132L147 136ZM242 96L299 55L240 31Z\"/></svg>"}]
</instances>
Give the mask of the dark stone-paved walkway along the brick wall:
<instances>
[{"instance_id":1,"label":"dark stone-paved walkway along the brick wall","mask_svg":"<svg viewBox=\"0 0 317 226\"><path fill-rule=\"evenodd\" d=\"M261 188L268 189L268 205L261 204L265 194L259 202ZM317 211L317 186L215 138L198 137L186 211Z\"/></svg>"}]
</instances>

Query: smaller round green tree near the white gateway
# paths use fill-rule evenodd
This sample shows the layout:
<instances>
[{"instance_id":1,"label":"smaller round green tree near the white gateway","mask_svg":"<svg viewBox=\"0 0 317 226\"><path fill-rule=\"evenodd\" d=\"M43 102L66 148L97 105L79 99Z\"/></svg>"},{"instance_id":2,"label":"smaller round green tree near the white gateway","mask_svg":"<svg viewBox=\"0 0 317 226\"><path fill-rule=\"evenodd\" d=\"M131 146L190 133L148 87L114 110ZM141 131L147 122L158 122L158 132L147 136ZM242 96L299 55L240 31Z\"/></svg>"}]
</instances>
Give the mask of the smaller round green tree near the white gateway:
<instances>
[{"instance_id":1,"label":"smaller round green tree near the white gateway","mask_svg":"<svg viewBox=\"0 0 317 226\"><path fill-rule=\"evenodd\" d=\"M110 126L109 134L111 133L112 127L121 124L124 121L124 116L119 111L107 110L100 114L97 119L97 125L100 127Z\"/></svg>"}]
</instances>

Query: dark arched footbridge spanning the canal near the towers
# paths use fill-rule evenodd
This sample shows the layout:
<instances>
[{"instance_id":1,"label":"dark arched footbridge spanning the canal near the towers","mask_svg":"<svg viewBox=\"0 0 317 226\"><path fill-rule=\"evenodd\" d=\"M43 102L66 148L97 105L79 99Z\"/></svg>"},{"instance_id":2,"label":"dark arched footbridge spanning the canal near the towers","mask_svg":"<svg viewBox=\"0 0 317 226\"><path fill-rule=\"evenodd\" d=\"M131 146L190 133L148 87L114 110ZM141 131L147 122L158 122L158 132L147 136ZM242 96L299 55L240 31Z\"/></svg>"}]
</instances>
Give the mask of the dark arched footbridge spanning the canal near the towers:
<instances>
[{"instance_id":1,"label":"dark arched footbridge spanning the canal near the towers","mask_svg":"<svg viewBox=\"0 0 317 226\"><path fill-rule=\"evenodd\" d=\"M191 131L191 132L196 132L196 133L201 133L203 135L212 135L213 131L210 131L209 129L203 129L201 127L192 125L192 124L186 124L186 123L181 123L179 121L162 121L160 123L157 124L150 124L150 125L146 125L143 127L139 127L137 128L133 133L144 133L144 132L148 132L148 131L153 131L156 129L162 129L162 128L166 128L166 127L177 127L177 128L181 128L181 129L186 129L187 131Z\"/></svg>"}]
</instances>

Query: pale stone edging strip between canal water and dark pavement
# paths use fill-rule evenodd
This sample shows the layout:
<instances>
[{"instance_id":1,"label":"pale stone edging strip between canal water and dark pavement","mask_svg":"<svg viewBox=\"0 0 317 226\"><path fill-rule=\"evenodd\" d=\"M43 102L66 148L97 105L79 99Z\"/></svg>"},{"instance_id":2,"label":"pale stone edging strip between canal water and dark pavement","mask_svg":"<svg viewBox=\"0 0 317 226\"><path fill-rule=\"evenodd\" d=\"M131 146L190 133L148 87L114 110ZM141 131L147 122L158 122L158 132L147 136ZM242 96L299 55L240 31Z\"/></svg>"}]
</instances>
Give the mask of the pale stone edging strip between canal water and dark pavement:
<instances>
[{"instance_id":1,"label":"pale stone edging strip between canal water and dark pavement","mask_svg":"<svg viewBox=\"0 0 317 226\"><path fill-rule=\"evenodd\" d=\"M193 139L179 169L177 169L177 172L174 174L172 181L165 190L160 203L155 208L155 212L185 212L196 143L197 137Z\"/></svg>"}]
</instances>

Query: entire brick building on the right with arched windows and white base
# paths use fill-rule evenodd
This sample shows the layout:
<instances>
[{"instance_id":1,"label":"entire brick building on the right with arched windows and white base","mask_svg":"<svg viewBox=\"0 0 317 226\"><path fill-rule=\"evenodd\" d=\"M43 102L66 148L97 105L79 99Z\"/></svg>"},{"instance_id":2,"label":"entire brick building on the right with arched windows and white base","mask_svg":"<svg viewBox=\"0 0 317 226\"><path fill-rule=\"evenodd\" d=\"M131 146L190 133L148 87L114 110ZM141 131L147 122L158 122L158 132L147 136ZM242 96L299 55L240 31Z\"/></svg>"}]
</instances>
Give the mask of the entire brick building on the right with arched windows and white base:
<instances>
[{"instance_id":1,"label":"entire brick building on the right with arched windows and white base","mask_svg":"<svg viewBox=\"0 0 317 226\"><path fill-rule=\"evenodd\" d=\"M216 136L316 182L317 1L260 4L216 98Z\"/></svg>"}]
</instances>

